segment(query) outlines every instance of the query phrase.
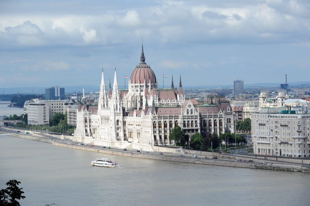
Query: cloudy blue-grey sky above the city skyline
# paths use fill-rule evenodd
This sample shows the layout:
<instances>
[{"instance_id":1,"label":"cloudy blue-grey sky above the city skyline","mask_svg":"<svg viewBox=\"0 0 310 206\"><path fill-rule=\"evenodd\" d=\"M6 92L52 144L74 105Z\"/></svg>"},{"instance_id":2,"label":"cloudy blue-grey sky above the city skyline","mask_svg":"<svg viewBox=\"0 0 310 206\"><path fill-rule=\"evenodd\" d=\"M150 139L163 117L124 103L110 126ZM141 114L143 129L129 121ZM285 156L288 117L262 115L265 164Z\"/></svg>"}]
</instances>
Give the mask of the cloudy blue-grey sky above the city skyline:
<instances>
[{"instance_id":1,"label":"cloudy blue-grey sky above the city skyline","mask_svg":"<svg viewBox=\"0 0 310 206\"><path fill-rule=\"evenodd\" d=\"M3 0L0 87L124 85L142 38L160 86L309 81L309 0Z\"/></svg>"}]
</instances>

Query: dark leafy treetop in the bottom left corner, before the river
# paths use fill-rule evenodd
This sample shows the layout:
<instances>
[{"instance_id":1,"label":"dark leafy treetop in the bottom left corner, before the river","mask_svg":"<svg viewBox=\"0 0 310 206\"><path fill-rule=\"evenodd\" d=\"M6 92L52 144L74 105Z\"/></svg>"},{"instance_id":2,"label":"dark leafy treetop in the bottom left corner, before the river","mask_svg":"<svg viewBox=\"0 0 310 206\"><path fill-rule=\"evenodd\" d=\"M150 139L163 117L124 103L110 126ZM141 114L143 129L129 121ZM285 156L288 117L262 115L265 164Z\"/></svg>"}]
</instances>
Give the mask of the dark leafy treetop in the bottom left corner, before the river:
<instances>
[{"instance_id":1,"label":"dark leafy treetop in the bottom left corner, before the river","mask_svg":"<svg viewBox=\"0 0 310 206\"><path fill-rule=\"evenodd\" d=\"M18 185L20 184L17 180L10 180L7 182L7 188L2 189L0 191L0 205L3 206L20 206L19 202L16 200L24 199L26 198L22 194L24 193L22 191L23 188L19 188Z\"/></svg>"}]
</instances>

